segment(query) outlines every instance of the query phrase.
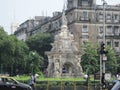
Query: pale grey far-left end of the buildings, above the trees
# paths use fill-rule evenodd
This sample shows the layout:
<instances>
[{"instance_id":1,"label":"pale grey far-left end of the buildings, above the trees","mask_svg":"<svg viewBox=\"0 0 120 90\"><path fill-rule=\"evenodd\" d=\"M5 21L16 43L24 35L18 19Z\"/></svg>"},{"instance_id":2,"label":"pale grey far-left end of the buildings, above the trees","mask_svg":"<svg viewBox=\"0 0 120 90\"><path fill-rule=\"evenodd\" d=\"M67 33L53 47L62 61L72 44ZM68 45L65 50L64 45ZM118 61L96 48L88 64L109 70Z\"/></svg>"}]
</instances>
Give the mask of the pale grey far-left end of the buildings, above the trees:
<instances>
[{"instance_id":1,"label":"pale grey far-left end of the buildings, above the trees","mask_svg":"<svg viewBox=\"0 0 120 90\"><path fill-rule=\"evenodd\" d=\"M14 34L19 40L25 41L27 38L33 35L33 33L37 33L37 31L34 31L33 28L40 25L45 18L46 17L44 16L35 16L33 19L26 20L17 27L17 30L14 32Z\"/></svg>"}]
</instances>

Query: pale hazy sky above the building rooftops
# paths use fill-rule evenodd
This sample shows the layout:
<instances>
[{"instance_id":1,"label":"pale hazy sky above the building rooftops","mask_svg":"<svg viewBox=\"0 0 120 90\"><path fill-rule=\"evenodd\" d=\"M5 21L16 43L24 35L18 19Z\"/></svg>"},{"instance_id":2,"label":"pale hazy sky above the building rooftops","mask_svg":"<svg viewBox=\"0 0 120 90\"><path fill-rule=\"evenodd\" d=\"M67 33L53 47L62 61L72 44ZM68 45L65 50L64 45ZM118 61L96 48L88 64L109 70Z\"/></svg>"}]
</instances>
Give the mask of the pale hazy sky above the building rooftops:
<instances>
[{"instance_id":1,"label":"pale hazy sky above the building rooftops","mask_svg":"<svg viewBox=\"0 0 120 90\"><path fill-rule=\"evenodd\" d=\"M35 16L52 16L54 11L62 11L66 0L1 0L0 26L11 34L12 23L23 23ZM101 5L102 0L96 0ZM108 5L120 4L120 0L105 0Z\"/></svg>"}]
</instances>

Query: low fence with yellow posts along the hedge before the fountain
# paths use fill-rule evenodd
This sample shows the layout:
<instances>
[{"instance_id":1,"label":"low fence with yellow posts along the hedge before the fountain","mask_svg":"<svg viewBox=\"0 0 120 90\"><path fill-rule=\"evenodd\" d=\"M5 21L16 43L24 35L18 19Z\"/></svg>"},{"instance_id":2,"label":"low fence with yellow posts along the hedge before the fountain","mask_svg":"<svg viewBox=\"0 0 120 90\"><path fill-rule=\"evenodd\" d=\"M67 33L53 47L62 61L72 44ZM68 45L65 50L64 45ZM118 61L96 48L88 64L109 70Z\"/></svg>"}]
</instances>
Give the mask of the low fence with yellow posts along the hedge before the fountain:
<instances>
[{"instance_id":1,"label":"low fence with yellow posts along the hedge before the fountain","mask_svg":"<svg viewBox=\"0 0 120 90\"><path fill-rule=\"evenodd\" d=\"M80 81L40 81L35 87L36 90L100 90L99 83Z\"/></svg>"}]
</instances>

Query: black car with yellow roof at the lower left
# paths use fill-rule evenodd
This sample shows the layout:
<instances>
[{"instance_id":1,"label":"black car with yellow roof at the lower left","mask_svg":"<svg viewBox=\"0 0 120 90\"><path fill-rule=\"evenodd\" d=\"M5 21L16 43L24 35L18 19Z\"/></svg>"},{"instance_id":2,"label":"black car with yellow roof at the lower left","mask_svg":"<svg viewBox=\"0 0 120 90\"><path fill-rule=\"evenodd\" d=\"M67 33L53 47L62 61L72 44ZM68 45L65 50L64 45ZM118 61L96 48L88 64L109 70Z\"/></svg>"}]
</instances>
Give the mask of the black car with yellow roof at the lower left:
<instances>
[{"instance_id":1,"label":"black car with yellow roof at the lower left","mask_svg":"<svg viewBox=\"0 0 120 90\"><path fill-rule=\"evenodd\" d=\"M0 90L32 90L27 85L16 81L12 77L0 76Z\"/></svg>"}]
</instances>

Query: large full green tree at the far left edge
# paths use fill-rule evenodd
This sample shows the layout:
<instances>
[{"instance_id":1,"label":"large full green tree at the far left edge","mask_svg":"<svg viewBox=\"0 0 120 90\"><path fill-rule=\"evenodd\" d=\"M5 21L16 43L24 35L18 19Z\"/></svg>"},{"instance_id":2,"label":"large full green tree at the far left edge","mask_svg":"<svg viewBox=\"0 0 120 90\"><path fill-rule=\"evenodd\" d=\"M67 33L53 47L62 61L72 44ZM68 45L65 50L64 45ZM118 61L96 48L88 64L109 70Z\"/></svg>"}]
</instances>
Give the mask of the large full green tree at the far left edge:
<instances>
[{"instance_id":1,"label":"large full green tree at the far left edge","mask_svg":"<svg viewBox=\"0 0 120 90\"><path fill-rule=\"evenodd\" d=\"M1 73L24 72L28 52L29 48L23 41L19 41L14 35L7 35L0 29L0 65L4 71Z\"/></svg>"}]
</instances>

